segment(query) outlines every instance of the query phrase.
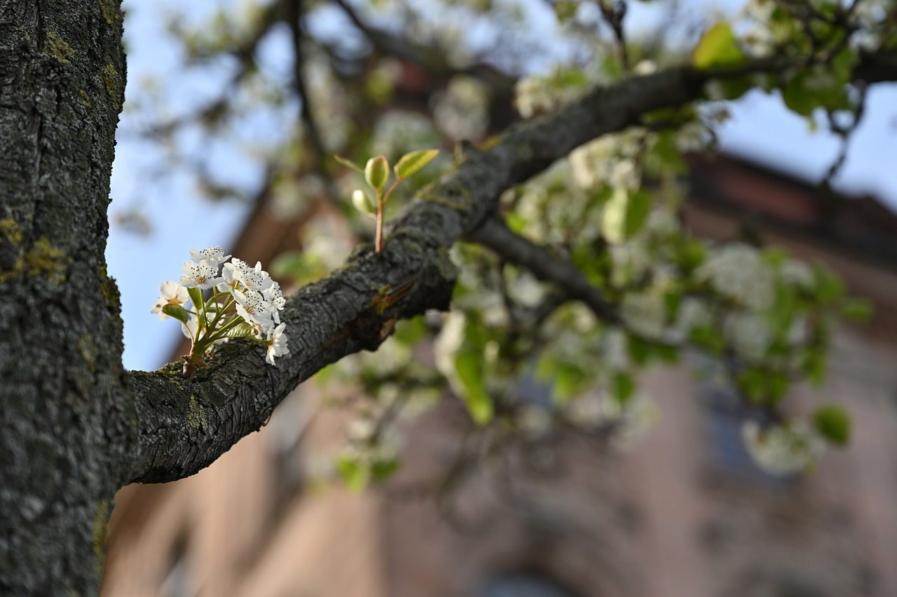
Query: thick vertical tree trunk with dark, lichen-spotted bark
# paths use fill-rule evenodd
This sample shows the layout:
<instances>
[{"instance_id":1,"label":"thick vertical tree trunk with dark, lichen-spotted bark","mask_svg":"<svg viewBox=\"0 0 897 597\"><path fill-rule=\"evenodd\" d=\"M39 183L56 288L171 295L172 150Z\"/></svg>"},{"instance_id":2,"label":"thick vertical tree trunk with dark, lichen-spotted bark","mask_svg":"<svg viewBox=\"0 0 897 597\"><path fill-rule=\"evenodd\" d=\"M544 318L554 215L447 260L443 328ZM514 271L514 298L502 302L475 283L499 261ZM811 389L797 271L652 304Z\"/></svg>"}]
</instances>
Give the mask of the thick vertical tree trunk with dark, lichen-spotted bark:
<instances>
[{"instance_id":1,"label":"thick vertical tree trunk with dark, lichen-spotted bark","mask_svg":"<svg viewBox=\"0 0 897 597\"><path fill-rule=\"evenodd\" d=\"M119 0L0 0L4 595L98 593L134 444L104 265L124 87Z\"/></svg>"}]
</instances>

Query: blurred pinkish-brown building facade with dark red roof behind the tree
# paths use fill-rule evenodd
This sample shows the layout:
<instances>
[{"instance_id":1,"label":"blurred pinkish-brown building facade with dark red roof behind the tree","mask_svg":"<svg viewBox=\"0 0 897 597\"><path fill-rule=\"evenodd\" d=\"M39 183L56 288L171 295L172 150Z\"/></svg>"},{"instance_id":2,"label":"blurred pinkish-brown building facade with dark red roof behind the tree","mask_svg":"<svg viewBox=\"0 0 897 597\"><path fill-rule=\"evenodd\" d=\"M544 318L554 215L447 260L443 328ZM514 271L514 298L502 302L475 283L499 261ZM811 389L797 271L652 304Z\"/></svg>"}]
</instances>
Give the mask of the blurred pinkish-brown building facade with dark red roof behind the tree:
<instances>
[{"instance_id":1,"label":"blurred pinkish-brown building facade with dark red roof behind the tree","mask_svg":"<svg viewBox=\"0 0 897 597\"><path fill-rule=\"evenodd\" d=\"M305 384L205 471L118 493L103 594L897 595L897 216L742 160L693 166L695 232L747 230L828 264L875 305L870 324L839 329L824 387L796 390L854 421L849 447L817 471L760 472L731 396L666 368L643 380L660 420L626 453L563 437L513 479L483 470L445 496L416 495L408 483L449 469L469 425L447 401L405 427L397 478L355 495L313 480L345 421ZM267 263L294 237L263 205L233 252Z\"/></svg>"}]
</instances>

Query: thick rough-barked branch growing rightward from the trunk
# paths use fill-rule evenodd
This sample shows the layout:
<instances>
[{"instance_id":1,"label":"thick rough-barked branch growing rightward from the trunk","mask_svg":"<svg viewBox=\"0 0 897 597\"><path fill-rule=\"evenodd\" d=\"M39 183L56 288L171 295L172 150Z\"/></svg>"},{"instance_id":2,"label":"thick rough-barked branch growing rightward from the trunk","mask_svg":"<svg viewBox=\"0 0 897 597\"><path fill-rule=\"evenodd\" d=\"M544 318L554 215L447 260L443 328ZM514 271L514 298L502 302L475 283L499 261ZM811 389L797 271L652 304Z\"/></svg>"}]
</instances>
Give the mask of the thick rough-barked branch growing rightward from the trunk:
<instances>
[{"instance_id":1,"label":"thick rough-barked branch growing rightward from the trunk","mask_svg":"<svg viewBox=\"0 0 897 597\"><path fill-rule=\"evenodd\" d=\"M864 62L858 74L873 76L880 64ZM636 124L646 112L698 99L710 78L782 68L767 64L711 73L685 67L632 78L514 126L488 149L466 151L455 169L422 189L399 216L384 253L361 247L343 268L288 300L284 319L291 354L275 368L262 361L257 345L232 342L191 380L172 366L132 374L140 439L131 480L176 480L201 470L265 424L274 406L318 369L376 349L396 318L448 307L454 278L448 247L492 216L505 189L582 143ZM378 314L375 299L411 280L408 295Z\"/></svg>"}]
</instances>

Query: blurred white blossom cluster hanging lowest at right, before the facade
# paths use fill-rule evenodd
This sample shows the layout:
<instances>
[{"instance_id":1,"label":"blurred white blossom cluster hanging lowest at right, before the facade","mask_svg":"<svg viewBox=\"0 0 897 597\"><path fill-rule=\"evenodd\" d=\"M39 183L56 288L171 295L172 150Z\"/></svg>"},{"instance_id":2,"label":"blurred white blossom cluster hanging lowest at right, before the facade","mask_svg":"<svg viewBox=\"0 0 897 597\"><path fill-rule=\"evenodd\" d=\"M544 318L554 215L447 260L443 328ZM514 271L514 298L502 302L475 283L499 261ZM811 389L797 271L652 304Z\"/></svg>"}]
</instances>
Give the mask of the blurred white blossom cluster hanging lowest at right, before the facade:
<instances>
[{"instance_id":1,"label":"blurred white blossom cluster hanging lowest at right, before the facade","mask_svg":"<svg viewBox=\"0 0 897 597\"><path fill-rule=\"evenodd\" d=\"M756 421L747 421L742 437L753 460L764 471L776 475L805 471L825 451L823 438L803 420L765 429Z\"/></svg>"}]
</instances>

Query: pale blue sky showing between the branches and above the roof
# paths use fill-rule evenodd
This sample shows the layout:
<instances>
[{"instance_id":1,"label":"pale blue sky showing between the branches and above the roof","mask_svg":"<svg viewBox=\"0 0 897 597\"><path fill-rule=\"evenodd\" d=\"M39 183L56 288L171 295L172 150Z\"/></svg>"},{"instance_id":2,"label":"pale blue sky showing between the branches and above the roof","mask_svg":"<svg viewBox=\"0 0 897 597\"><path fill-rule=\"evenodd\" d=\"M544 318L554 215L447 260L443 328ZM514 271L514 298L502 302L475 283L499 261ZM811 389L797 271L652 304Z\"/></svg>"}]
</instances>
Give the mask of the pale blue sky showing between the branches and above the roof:
<instances>
[{"instance_id":1,"label":"pale blue sky showing between the branches and above the roof","mask_svg":"<svg viewBox=\"0 0 897 597\"><path fill-rule=\"evenodd\" d=\"M140 206L152 225L149 236L136 235L114 223L110 226L106 255L109 273L121 290L122 317L125 322L126 368L154 369L170 355L179 337L179 326L172 320L160 321L150 314L158 296L159 283L177 280L180 267L190 248L222 245L225 248L239 233L248 206L241 203L212 203L193 187L191 179L178 172L153 172L161 161L161 150L128 131L139 125L136 110L127 102L139 101L144 93L140 82L155 76L165 82L169 93L166 103L174 111L213 98L221 89L226 65L205 74L184 76L178 48L165 33L165 15L174 13L196 22L220 5L239 4L228 0L126 0L126 48L128 82L126 111L119 125L116 160L112 169L113 198L110 217ZM691 10L718 10L720 3L692 0ZM736 0L721 3L727 12L742 4ZM634 33L649 28L660 18L650 4L631 3L628 17ZM540 19L541 21L541 19ZM266 53L283 56L280 44L272 39ZM806 121L789 113L776 96L749 93L731 108L732 119L719 131L721 148L756 160L776 169L794 173L810 181L819 180L839 150L839 141L827 133L811 133ZM260 138L277 133L276 122L248 123ZM202 143L201 139L182 139L184 143ZM249 184L257 178L257 167L223 145L197 146L211 152L222 169L237 182ZM218 156L221 156L218 159ZM867 117L850 143L847 162L835 181L840 190L869 193L880 197L897 210L897 84L881 84L867 99Z\"/></svg>"}]
</instances>

